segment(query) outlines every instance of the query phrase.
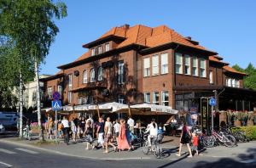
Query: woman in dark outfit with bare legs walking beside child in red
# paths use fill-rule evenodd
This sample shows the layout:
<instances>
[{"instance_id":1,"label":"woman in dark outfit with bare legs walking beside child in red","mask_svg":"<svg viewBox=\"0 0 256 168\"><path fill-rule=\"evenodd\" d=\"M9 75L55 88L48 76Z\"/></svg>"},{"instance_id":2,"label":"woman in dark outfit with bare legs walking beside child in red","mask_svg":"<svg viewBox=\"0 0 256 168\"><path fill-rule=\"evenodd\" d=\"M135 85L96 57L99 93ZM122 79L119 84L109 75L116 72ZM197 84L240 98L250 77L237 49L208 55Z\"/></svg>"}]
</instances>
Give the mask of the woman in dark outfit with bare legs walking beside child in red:
<instances>
[{"instance_id":1,"label":"woman in dark outfit with bare legs walking beside child in red","mask_svg":"<svg viewBox=\"0 0 256 168\"><path fill-rule=\"evenodd\" d=\"M193 157L193 155L191 153L191 148L189 146L190 139L191 139L191 132L189 131L189 127L187 126L186 122L184 121L183 129L182 129L182 133L181 133L181 137L180 137L178 154L176 154L177 156L181 156L182 146L183 146L183 144L186 144L188 147L188 150L189 150L189 158Z\"/></svg>"}]
</instances>

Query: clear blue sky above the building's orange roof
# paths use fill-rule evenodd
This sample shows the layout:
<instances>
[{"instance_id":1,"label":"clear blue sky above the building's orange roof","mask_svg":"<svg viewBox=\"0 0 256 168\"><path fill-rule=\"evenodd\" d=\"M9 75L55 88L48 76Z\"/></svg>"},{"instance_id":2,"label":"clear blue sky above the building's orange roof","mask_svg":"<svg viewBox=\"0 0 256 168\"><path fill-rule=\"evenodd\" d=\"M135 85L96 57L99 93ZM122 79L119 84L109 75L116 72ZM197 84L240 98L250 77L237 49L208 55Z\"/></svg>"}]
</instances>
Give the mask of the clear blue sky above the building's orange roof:
<instances>
[{"instance_id":1,"label":"clear blue sky above the building's orange roof","mask_svg":"<svg viewBox=\"0 0 256 168\"><path fill-rule=\"evenodd\" d=\"M113 26L167 25L192 36L224 61L245 68L256 65L255 0L65 0L67 18L60 28L41 74L55 74L86 52L82 44L96 40Z\"/></svg>"}]
</instances>

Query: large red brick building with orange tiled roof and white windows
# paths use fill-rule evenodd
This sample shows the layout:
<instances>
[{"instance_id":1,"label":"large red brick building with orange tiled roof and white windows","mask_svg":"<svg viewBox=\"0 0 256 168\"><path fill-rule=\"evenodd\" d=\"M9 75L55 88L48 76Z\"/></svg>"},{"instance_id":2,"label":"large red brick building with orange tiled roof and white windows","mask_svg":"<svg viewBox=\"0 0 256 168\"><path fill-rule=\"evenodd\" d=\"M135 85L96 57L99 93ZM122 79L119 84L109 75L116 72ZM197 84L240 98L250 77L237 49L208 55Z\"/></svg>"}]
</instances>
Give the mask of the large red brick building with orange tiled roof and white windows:
<instances>
[{"instance_id":1,"label":"large red brick building with orange tiled roof and white windows","mask_svg":"<svg viewBox=\"0 0 256 168\"><path fill-rule=\"evenodd\" d=\"M188 110L216 91L218 109L255 107L255 92L243 88L246 74L166 25L113 27L83 48L88 52L42 79L45 107L54 91L64 105L146 102Z\"/></svg>"}]
</instances>

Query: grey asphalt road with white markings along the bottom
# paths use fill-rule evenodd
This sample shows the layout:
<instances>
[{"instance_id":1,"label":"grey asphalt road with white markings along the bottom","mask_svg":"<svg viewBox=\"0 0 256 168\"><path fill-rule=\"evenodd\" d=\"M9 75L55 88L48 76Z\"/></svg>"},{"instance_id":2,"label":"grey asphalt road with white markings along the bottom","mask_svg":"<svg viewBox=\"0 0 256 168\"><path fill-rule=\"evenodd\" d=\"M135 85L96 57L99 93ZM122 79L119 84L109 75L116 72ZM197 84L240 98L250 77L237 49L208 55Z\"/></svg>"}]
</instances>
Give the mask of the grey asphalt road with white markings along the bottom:
<instances>
[{"instance_id":1,"label":"grey asphalt road with white markings along the bottom","mask_svg":"<svg viewBox=\"0 0 256 168\"><path fill-rule=\"evenodd\" d=\"M255 151L253 151L255 152ZM0 168L45 168L45 167L178 167L178 168L204 168L204 167L256 167L256 162L252 160L252 154L244 156L247 163L225 158L206 158L196 156L192 159L181 157L172 160L86 160L76 157L68 157L52 154L35 148L24 148L16 145L0 143Z\"/></svg>"}]
</instances>

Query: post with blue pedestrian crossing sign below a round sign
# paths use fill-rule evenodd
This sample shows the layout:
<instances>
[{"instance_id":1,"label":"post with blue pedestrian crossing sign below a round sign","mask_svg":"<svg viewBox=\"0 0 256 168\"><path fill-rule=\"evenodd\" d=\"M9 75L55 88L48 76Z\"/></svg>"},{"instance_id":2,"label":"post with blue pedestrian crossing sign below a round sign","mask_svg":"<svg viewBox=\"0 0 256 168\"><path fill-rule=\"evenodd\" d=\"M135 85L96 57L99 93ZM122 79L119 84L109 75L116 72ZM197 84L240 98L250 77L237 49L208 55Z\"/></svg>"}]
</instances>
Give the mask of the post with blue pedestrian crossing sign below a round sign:
<instances>
[{"instance_id":1,"label":"post with blue pedestrian crossing sign below a round sign","mask_svg":"<svg viewBox=\"0 0 256 168\"><path fill-rule=\"evenodd\" d=\"M53 101L51 102L52 110L55 110L55 141L57 141L57 132L58 132L58 117L57 117L57 111L61 110L61 101L59 100L61 98L61 95L59 92L53 93Z\"/></svg>"}]
</instances>

